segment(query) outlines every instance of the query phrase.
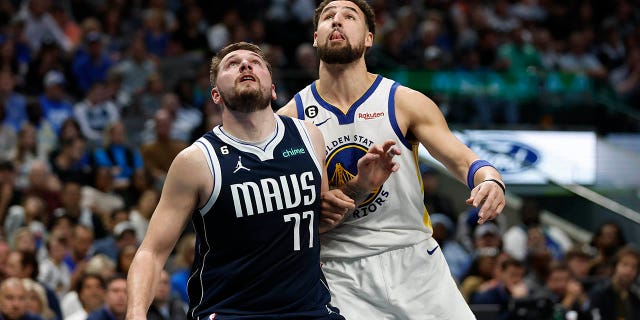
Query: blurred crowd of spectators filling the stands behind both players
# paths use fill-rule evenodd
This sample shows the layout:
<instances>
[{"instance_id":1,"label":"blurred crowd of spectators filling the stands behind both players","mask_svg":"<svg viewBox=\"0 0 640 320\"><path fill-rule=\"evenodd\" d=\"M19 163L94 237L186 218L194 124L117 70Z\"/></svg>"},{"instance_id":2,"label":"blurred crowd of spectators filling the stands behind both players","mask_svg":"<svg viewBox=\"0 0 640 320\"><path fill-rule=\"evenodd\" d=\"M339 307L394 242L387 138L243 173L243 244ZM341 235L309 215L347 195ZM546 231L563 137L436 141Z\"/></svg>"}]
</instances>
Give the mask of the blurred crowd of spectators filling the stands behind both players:
<instances>
[{"instance_id":1,"label":"blurred crowd of spectators filling the stands behind both players","mask_svg":"<svg viewBox=\"0 0 640 320\"><path fill-rule=\"evenodd\" d=\"M415 69L516 78L568 72L638 107L640 11L632 1L371 4L378 24L367 53L373 72ZM106 313L124 312L123 276L171 161L220 122L220 109L210 99L210 57L230 42L260 45L274 67L277 108L317 77L315 5L312 0L0 0L4 318L27 312L43 319L103 319ZM456 104L438 92L428 94L447 118L462 123L527 119L527 105L508 96L478 94ZM446 207L442 199L427 203ZM433 215L434 229L444 248L456 248L445 254L458 250L447 258L472 303L501 298L501 304L511 296L541 292L567 310L591 314L592 307L583 308L587 300L589 306L599 301L597 294L587 294L591 285L635 292L624 285L637 275L638 255L622 249L624 237L615 226L610 228L617 231L596 232L593 243L586 244L589 250L583 250L566 239L548 240L537 223L525 222L513 231L518 240L506 241L511 230L504 226L474 229L459 222L472 221L471 212L445 211L430 208L445 213ZM460 232L466 236L454 240ZM184 316L194 243L192 230L185 230L156 294L154 319ZM580 266L573 257L586 261L586 270L582 264L576 271ZM623 270L620 261L632 270ZM595 279L591 276L604 282L589 282ZM563 277L564 284L555 285L552 277ZM491 297L482 293L495 288L508 290ZM27 294L26 303L10 299L16 292ZM624 301L637 297L627 294Z\"/></svg>"}]
</instances>

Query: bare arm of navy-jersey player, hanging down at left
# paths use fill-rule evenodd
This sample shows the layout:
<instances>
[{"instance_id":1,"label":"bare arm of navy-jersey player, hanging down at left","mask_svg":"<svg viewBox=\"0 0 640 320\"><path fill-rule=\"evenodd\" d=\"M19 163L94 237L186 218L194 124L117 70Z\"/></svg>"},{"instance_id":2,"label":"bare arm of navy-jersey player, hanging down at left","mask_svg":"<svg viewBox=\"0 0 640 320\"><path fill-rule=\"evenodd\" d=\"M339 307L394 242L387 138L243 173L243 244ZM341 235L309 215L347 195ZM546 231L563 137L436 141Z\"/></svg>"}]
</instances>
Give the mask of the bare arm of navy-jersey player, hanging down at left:
<instances>
[{"instance_id":1,"label":"bare arm of navy-jersey player, hanging down at left","mask_svg":"<svg viewBox=\"0 0 640 320\"><path fill-rule=\"evenodd\" d=\"M202 152L195 146L183 150L175 158L165 181L162 195L154 211L147 234L136 253L127 279L127 320L146 319L167 257L173 250L191 213L199 205L199 194L207 183L209 172Z\"/></svg>"}]
</instances>

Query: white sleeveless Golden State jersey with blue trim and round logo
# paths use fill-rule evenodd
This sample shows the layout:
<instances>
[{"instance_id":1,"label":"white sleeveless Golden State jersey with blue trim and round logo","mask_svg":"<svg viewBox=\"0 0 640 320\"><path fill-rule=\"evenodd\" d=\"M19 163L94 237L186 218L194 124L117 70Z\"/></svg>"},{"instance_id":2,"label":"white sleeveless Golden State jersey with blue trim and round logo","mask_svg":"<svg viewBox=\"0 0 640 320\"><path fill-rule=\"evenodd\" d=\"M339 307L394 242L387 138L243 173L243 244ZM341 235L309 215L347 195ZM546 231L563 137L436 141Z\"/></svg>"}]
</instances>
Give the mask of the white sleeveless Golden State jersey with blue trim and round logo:
<instances>
[{"instance_id":1,"label":"white sleeveless Golden State jersey with blue trim and round logo","mask_svg":"<svg viewBox=\"0 0 640 320\"><path fill-rule=\"evenodd\" d=\"M322 99L315 82L295 96L298 118L312 121L324 135L331 187L339 187L357 174L358 159L374 143L393 139L402 152L394 158L400 170L341 225L322 235L323 259L370 256L431 236L424 224L428 216L417 164L418 144L407 141L395 117L397 87L398 83L378 75L347 114Z\"/></svg>"}]
</instances>

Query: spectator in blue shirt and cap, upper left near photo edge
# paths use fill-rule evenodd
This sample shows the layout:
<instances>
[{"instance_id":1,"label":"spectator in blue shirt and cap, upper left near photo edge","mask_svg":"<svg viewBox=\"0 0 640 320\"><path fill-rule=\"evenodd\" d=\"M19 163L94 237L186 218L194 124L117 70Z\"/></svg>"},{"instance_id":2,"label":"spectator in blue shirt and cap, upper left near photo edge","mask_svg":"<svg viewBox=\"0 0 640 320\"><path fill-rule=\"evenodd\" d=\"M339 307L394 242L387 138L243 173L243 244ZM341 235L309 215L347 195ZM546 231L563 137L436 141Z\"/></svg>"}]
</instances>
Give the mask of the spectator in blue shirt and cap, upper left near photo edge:
<instances>
[{"instance_id":1,"label":"spectator in blue shirt and cap, upper left near photo edge","mask_svg":"<svg viewBox=\"0 0 640 320\"><path fill-rule=\"evenodd\" d=\"M47 119L53 130L58 134L62 123L73 117L73 105L68 100L65 91L65 76L62 72L51 70L46 73L44 80L44 92L40 95L40 105L44 118Z\"/></svg>"}]
</instances>

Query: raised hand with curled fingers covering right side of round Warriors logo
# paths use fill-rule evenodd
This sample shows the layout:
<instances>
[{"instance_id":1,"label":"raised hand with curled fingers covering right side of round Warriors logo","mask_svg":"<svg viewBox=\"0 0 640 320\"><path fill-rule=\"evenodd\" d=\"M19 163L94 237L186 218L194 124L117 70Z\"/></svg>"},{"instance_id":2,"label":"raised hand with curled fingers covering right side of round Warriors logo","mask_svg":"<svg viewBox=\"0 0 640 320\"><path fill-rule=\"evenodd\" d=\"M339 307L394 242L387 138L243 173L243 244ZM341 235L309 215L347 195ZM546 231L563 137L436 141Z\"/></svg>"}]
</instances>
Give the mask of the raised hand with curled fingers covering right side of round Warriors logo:
<instances>
[{"instance_id":1,"label":"raised hand with curled fingers covering right side of round Warriors logo","mask_svg":"<svg viewBox=\"0 0 640 320\"><path fill-rule=\"evenodd\" d=\"M400 168L398 163L393 162L393 157L400 155L400 149L395 144L393 140L386 140L382 145L371 146L367 154L358 160L358 174L351 182L371 192L387 181Z\"/></svg>"}]
</instances>

